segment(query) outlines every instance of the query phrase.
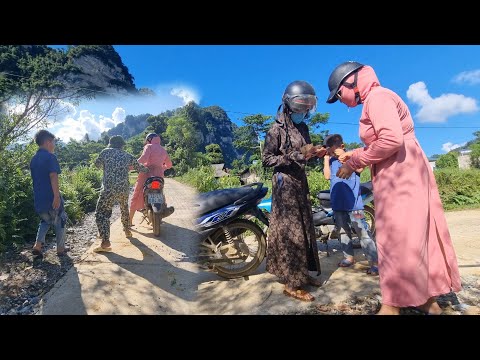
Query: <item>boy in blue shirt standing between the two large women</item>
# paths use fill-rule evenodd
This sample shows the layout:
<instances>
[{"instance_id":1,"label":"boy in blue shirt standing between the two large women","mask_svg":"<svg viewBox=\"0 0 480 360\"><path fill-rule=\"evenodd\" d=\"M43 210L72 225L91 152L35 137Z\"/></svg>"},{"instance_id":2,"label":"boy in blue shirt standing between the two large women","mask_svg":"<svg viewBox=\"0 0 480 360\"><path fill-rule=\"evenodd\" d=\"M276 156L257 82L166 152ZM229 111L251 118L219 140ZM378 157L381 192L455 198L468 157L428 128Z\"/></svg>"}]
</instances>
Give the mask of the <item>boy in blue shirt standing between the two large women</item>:
<instances>
[{"instance_id":1,"label":"boy in blue shirt standing between the two large women","mask_svg":"<svg viewBox=\"0 0 480 360\"><path fill-rule=\"evenodd\" d=\"M340 236L344 259L338 264L340 267L349 267L354 264L352 227L357 233L362 249L369 262L369 275L378 275L378 256L375 242L368 234L368 224L363 213L363 201L360 194L360 173L357 169L348 179L338 178L335 174L342 166L338 157L345 153L345 145L339 134L329 135L325 138L324 146L327 155L324 157L323 174L330 180L330 201L333 217L339 229L344 229L345 234Z\"/></svg>"}]
</instances>

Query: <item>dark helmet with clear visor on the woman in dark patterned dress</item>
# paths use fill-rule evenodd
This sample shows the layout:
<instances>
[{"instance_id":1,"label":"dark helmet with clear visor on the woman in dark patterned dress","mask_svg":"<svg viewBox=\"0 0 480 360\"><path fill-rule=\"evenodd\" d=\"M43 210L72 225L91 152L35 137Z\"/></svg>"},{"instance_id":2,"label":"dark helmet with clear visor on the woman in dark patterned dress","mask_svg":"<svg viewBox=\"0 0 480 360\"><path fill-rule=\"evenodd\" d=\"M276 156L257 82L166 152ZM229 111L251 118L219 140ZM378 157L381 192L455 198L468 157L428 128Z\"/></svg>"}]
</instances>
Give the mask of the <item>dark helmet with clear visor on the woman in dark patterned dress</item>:
<instances>
[{"instance_id":1,"label":"dark helmet with clear visor on the woman in dark patterned dress","mask_svg":"<svg viewBox=\"0 0 480 360\"><path fill-rule=\"evenodd\" d=\"M283 92L282 101L294 113L315 111L317 107L315 89L308 82L302 80L288 84Z\"/></svg>"}]
</instances>

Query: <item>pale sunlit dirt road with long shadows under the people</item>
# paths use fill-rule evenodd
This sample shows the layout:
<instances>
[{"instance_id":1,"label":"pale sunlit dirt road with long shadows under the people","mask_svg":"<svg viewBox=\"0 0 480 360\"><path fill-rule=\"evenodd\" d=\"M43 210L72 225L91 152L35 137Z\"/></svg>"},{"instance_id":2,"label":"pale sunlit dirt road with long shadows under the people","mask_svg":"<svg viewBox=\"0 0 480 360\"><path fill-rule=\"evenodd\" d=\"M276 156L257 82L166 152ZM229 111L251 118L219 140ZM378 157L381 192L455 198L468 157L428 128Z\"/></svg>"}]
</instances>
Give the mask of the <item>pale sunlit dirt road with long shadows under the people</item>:
<instances>
[{"instance_id":1,"label":"pale sunlit dirt road with long shadows under the people","mask_svg":"<svg viewBox=\"0 0 480 360\"><path fill-rule=\"evenodd\" d=\"M193 231L196 192L168 178L165 192L176 210L165 219L159 238L142 224L134 229L133 238L127 239L120 220L115 221L113 251L96 254L93 247L88 250L42 299L39 314L292 314L345 304L352 296L369 296L378 302L378 277L365 275L363 255L357 256L360 263L354 269L338 268L342 255L336 241L331 243L334 251L330 257L320 246L324 285L311 289L314 303L284 296L283 285L265 272L264 263L248 280L224 280L200 269L196 264L199 239ZM449 212L446 217L467 284L458 299L477 304L480 210ZM134 223L139 222L140 216L136 216Z\"/></svg>"}]
</instances>

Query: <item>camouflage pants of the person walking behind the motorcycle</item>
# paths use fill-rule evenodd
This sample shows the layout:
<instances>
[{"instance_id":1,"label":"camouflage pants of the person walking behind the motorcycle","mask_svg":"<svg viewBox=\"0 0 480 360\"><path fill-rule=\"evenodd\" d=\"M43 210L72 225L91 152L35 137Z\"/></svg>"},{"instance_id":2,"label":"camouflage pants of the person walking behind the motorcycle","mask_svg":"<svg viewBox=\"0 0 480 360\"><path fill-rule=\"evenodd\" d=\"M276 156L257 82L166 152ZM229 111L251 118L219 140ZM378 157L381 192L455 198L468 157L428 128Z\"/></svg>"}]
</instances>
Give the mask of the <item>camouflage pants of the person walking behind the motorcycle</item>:
<instances>
[{"instance_id":1,"label":"camouflage pants of the person walking behind the motorcycle","mask_svg":"<svg viewBox=\"0 0 480 360\"><path fill-rule=\"evenodd\" d=\"M110 217L116 202L120 204L123 230L128 229L128 192L101 191L95 210L95 220L102 241L110 240Z\"/></svg>"}]
</instances>

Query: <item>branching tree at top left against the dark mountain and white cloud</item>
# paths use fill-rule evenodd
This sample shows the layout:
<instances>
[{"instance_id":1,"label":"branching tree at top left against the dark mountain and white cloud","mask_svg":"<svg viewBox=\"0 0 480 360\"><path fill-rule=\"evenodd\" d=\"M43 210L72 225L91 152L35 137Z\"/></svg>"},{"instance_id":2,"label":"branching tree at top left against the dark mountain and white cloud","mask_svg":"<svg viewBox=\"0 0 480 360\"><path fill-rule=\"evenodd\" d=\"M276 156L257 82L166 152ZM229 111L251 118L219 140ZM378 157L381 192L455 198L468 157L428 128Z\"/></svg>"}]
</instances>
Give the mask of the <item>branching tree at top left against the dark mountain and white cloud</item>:
<instances>
[{"instance_id":1,"label":"branching tree at top left against the dark mountain and white cloud","mask_svg":"<svg viewBox=\"0 0 480 360\"><path fill-rule=\"evenodd\" d=\"M68 56L43 45L0 45L0 151L68 111L65 102L93 97L63 79L78 71Z\"/></svg>"}]
</instances>

